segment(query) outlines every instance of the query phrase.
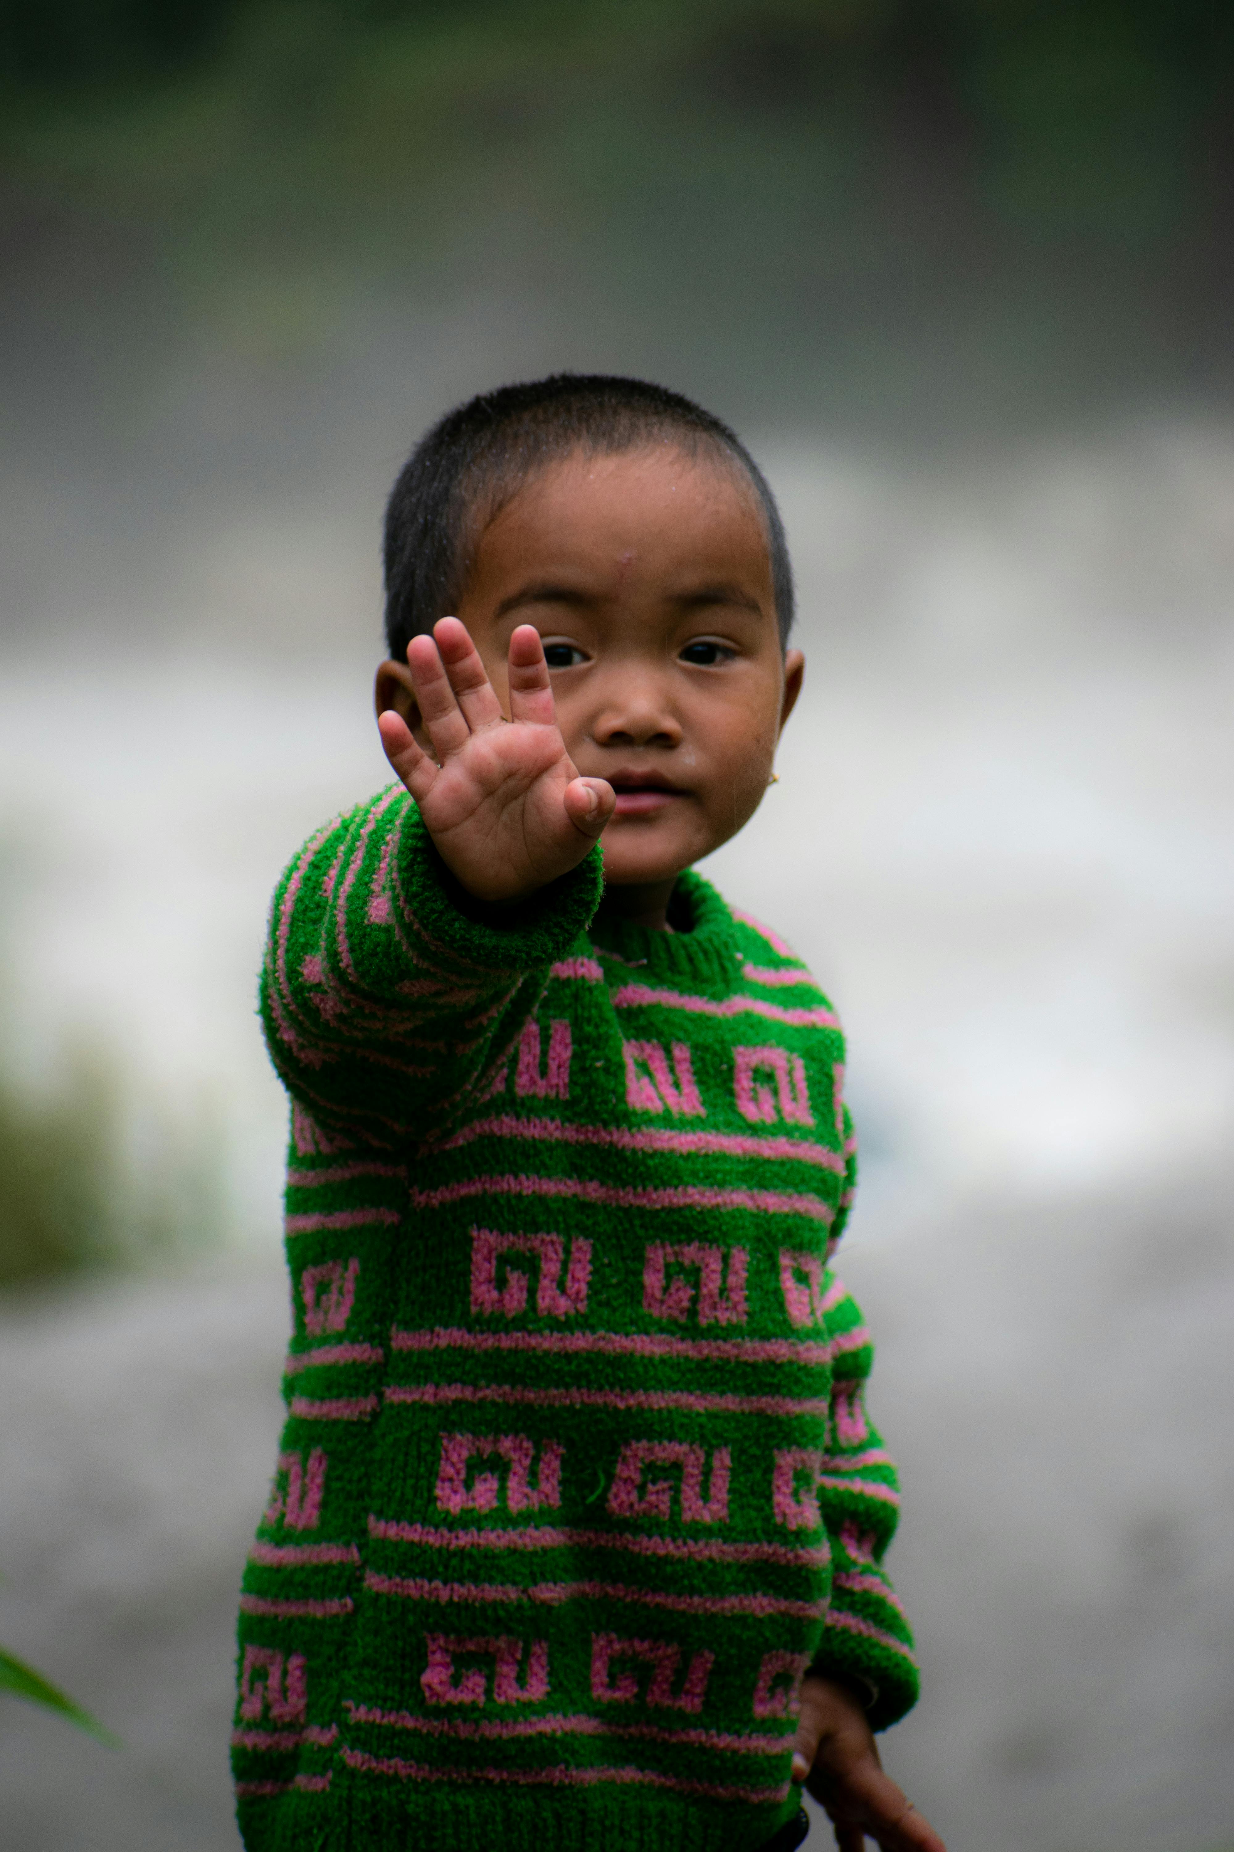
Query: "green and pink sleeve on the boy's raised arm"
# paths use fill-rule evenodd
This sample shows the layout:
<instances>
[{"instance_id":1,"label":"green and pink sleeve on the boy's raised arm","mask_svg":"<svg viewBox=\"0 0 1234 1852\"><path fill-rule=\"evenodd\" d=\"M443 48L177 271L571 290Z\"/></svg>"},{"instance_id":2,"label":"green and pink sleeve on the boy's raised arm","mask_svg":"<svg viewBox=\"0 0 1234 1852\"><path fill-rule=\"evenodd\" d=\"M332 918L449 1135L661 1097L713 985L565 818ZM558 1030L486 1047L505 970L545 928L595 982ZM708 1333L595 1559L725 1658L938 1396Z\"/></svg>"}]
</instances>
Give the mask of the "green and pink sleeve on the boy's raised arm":
<instances>
[{"instance_id":1,"label":"green and pink sleeve on the boy's raised arm","mask_svg":"<svg viewBox=\"0 0 1234 1852\"><path fill-rule=\"evenodd\" d=\"M274 895L261 1017L322 1148L422 1139L483 1096L599 893L594 848L520 906L485 907L398 785L311 837Z\"/></svg>"}]
</instances>

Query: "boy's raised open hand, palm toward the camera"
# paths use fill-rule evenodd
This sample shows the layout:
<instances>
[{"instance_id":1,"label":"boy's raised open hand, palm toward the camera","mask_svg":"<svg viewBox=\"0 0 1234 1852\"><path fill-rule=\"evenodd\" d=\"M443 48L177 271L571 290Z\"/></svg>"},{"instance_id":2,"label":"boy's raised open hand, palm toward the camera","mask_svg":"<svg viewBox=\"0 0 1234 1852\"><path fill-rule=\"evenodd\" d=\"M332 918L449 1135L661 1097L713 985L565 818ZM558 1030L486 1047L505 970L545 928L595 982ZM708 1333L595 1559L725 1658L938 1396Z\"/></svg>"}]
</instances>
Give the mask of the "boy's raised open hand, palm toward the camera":
<instances>
[{"instance_id":1,"label":"boy's raised open hand, palm toward the camera","mask_svg":"<svg viewBox=\"0 0 1234 1852\"><path fill-rule=\"evenodd\" d=\"M420 806L446 867L477 900L522 900L568 874L612 817L612 785L579 778L557 726L540 633L509 643L511 717L457 617L407 646L433 756L387 709L385 756Z\"/></svg>"}]
</instances>

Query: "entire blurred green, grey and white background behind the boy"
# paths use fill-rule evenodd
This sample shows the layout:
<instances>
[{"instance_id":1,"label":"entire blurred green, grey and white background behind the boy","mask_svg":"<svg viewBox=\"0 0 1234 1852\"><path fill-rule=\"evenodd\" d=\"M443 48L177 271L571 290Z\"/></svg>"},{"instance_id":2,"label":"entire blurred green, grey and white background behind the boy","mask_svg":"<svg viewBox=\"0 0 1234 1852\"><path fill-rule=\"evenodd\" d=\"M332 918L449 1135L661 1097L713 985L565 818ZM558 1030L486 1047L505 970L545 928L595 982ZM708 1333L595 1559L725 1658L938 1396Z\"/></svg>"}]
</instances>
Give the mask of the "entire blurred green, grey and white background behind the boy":
<instances>
[{"instance_id":1,"label":"entire blurred green, grey and white background behind the boy","mask_svg":"<svg viewBox=\"0 0 1234 1852\"><path fill-rule=\"evenodd\" d=\"M1234 11L0 0L13 1852L235 1852L272 883L385 782L383 494L557 369L738 426L807 693L709 872L836 996L953 1852L1234 1846ZM827 1841L818 1826L816 1841Z\"/></svg>"}]
</instances>

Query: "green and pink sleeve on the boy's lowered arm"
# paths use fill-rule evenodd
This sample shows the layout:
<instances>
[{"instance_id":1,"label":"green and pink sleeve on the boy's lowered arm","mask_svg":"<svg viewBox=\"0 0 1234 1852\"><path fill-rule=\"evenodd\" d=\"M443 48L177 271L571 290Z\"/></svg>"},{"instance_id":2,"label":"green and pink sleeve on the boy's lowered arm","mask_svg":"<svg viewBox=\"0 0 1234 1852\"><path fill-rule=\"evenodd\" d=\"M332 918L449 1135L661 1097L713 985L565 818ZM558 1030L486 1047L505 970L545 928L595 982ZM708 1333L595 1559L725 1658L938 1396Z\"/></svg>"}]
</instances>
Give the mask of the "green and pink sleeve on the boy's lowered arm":
<instances>
[{"instance_id":1,"label":"green and pink sleeve on the boy's lowered arm","mask_svg":"<svg viewBox=\"0 0 1234 1852\"><path fill-rule=\"evenodd\" d=\"M912 1709L919 1689L912 1628L882 1567L899 1517L899 1480L866 1415L870 1332L844 1285L834 1276L827 1283L834 1374L820 1506L833 1585L812 1669L851 1678L866 1698L871 1726L886 1730Z\"/></svg>"}]
</instances>

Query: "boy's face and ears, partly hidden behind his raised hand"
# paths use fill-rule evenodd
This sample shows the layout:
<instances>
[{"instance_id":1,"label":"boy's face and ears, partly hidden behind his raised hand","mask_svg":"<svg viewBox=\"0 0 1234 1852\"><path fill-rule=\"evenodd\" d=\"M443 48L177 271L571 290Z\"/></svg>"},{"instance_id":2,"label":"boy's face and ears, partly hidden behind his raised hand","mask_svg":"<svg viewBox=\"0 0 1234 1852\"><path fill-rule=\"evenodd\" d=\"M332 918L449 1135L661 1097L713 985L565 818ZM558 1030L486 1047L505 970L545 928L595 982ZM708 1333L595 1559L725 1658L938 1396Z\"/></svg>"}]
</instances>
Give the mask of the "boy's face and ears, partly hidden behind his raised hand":
<instances>
[{"instance_id":1,"label":"boy's face and ears, partly hidden behind his raised hand","mask_svg":"<svg viewBox=\"0 0 1234 1852\"><path fill-rule=\"evenodd\" d=\"M457 615L507 711L511 632L540 632L566 750L616 791L609 883L675 880L759 807L805 663L781 656L762 520L722 463L657 446L549 465L485 530ZM394 669L377 704L414 719Z\"/></svg>"}]
</instances>

